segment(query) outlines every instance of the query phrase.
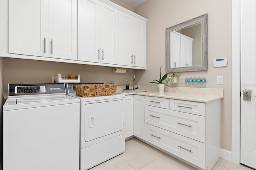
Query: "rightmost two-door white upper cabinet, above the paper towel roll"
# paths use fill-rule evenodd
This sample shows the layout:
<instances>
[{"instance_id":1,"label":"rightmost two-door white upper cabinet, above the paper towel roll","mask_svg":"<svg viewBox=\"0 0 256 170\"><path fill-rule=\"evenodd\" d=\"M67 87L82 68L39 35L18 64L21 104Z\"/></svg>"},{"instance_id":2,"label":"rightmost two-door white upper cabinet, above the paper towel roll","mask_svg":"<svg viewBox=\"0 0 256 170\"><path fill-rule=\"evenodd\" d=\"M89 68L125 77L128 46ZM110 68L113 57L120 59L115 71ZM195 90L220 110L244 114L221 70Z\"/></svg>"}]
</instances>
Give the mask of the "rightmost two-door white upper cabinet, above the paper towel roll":
<instances>
[{"instance_id":1,"label":"rightmost two-door white upper cabinet, above the paper towel roll","mask_svg":"<svg viewBox=\"0 0 256 170\"><path fill-rule=\"evenodd\" d=\"M118 64L146 67L146 22L118 11Z\"/></svg>"}]
</instances>

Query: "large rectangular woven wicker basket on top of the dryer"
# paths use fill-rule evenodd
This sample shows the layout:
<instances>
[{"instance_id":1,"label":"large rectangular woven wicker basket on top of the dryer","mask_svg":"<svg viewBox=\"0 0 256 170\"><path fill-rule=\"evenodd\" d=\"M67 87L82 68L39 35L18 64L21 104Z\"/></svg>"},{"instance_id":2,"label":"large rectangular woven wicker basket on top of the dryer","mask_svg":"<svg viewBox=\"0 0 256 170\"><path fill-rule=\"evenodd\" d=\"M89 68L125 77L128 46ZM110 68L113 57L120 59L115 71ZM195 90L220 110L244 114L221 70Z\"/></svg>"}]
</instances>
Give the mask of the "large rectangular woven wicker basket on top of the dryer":
<instances>
[{"instance_id":1,"label":"large rectangular woven wicker basket on top of the dryer","mask_svg":"<svg viewBox=\"0 0 256 170\"><path fill-rule=\"evenodd\" d=\"M76 95L81 97L106 96L116 94L116 84L75 85Z\"/></svg>"}]
</instances>

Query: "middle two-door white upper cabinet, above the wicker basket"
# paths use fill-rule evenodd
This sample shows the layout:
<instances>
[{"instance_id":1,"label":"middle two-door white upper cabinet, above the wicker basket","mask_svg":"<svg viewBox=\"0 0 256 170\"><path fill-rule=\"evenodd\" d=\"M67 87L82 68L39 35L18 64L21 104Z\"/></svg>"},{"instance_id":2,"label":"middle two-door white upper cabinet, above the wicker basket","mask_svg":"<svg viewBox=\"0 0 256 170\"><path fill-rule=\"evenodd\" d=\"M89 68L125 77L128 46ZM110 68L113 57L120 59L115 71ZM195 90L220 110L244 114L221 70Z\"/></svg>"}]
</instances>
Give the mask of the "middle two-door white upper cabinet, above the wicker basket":
<instances>
[{"instance_id":1,"label":"middle two-door white upper cabinet, above the wicker basket","mask_svg":"<svg viewBox=\"0 0 256 170\"><path fill-rule=\"evenodd\" d=\"M118 10L78 0L78 60L118 64Z\"/></svg>"}]
</instances>

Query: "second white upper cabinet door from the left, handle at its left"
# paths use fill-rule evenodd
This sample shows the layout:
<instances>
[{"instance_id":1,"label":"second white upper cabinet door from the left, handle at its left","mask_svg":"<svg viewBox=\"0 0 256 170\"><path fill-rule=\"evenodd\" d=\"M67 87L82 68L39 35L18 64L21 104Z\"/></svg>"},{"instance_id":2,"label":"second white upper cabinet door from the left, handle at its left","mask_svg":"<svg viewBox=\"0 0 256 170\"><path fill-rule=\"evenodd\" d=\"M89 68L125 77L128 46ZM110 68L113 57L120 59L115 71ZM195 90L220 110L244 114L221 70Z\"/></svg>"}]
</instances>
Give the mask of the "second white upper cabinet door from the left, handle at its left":
<instances>
[{"instance_id":1,"label":"second white upper cabinet door from the left, handle at its left","mask_svg":"<svg viewBox=\"0 0 256 170\"><path fill-rule=\"evenodd\" d=\"M77 0L49 0L48 55L77 60Z\"/></svg>"}]
</instances>

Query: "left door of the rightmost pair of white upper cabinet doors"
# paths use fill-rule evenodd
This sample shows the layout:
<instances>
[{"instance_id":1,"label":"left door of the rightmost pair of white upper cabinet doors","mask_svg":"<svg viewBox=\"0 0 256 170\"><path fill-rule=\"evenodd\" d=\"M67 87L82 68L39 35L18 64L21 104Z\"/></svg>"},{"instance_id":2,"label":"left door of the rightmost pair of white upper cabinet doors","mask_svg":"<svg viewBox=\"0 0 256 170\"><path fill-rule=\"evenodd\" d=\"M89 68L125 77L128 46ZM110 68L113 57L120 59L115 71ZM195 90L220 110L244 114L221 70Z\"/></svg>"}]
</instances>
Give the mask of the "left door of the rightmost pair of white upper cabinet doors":
<instances>
[{"instance_id":1,"label":"left door of the rightmost pair of white upper cabinet doors","mask_svg":"<svg viewBox=\"0 0 256 170\"><path fill-rule=\"evenodd\" d=\"M133 65L134 54L132 53L132 25L133 16L118 11L118 64Z\"/></svg>"}]
</instances>

